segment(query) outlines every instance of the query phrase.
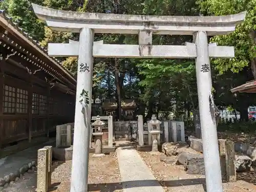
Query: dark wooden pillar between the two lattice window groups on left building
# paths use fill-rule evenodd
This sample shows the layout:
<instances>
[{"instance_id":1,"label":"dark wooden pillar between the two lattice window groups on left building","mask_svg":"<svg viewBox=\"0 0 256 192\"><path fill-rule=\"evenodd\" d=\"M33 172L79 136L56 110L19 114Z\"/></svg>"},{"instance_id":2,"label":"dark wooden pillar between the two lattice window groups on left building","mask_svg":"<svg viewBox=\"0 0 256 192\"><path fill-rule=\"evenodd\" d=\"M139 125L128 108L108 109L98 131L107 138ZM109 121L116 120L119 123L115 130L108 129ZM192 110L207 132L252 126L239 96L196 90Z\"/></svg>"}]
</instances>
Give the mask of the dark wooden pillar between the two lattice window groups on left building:
<instances>
[{"instance_id":1,"label":"dark wooden pillar between the two lattice window groups on left building","mask_svg":"<svg viewBox=\"0 0 256 192\"><path fill-rule=\"evenodd\" d=\"M32 138L32 102L33 102L33 75L29 76L30 87L28 90L28 124L29 124L29 142Z\"/></svg>"}]
</instances>

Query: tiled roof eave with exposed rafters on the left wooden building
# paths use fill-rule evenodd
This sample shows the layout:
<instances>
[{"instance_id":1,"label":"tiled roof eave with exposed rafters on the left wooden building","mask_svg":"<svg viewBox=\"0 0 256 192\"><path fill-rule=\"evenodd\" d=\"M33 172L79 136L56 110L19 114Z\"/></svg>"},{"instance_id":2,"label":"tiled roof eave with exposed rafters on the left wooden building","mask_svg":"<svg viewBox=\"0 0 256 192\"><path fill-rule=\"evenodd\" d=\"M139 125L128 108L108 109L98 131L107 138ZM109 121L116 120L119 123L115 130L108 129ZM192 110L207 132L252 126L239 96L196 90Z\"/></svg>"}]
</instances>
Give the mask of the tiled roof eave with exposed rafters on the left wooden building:
<instances>
[{"instance_id":1,"label":"tiled roof eave with exposed rafters on the left wooden building","mask_svg":"<svg viewBox=\"0 0 256 192\"><path fill-rule=\"evenodd\" d=\"M47 54L47 48L40 46L39 41L33 39L23 28L14 23L5 10L0 10L0 26L5 30L0 31L3 42L24 55L31 62L31 65L42 69L42 71L62 83L63 86L67 86L71 90L76 89L76 79L66 68L61 66L61 62L54 57L50 57Z\"/></svg>"}]
</instances>

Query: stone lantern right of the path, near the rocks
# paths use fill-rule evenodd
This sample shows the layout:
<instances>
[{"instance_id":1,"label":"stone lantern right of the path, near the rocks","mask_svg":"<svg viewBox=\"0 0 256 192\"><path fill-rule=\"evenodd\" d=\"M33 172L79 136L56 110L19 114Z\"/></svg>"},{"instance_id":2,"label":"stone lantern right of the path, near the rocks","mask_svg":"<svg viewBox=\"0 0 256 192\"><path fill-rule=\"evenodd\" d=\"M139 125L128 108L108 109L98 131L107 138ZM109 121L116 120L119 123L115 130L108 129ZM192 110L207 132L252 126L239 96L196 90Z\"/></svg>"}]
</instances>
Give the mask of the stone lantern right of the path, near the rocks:
<instances>
[{"instance_id":1,"label":"stone lantern right of the path, near the rocks","mask_svg":"<svg viewBox=\"0 0 256 192\"><path fill-rule=\"evenodd\" d=\"M152 152L158 152L158 143L160 143L160 124L156 115L152 115L150 121L147 122L148 127L148 145L152 145Z\"/></svg>"}]
</instances>

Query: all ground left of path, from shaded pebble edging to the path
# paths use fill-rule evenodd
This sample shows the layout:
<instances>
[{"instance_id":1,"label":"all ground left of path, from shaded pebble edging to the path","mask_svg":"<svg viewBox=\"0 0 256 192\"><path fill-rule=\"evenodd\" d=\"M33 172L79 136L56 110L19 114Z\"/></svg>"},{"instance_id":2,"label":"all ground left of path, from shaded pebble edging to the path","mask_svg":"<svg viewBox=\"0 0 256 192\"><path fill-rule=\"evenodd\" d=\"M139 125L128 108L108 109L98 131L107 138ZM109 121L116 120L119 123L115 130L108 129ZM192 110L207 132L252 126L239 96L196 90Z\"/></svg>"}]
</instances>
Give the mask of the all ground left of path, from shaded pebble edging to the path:
<instances>
[{"instance_id":1,"label":"all ground left of path, from shaded pebble edging to the path","mask_svg":"<svg viewBox=\"0 0 256 192\"><path fill-rule=\"evenodd\" d=\"M89 158L89 190L92 192L121 192L122 184L115 153L102 158ZM70 191L72 161L53 162L52 186L49 191ZM35 192L36 173L25 173L24 177L3 189L3 192ZM1 189L0 189L1 191Z\"/></svg>"}]
</instances>

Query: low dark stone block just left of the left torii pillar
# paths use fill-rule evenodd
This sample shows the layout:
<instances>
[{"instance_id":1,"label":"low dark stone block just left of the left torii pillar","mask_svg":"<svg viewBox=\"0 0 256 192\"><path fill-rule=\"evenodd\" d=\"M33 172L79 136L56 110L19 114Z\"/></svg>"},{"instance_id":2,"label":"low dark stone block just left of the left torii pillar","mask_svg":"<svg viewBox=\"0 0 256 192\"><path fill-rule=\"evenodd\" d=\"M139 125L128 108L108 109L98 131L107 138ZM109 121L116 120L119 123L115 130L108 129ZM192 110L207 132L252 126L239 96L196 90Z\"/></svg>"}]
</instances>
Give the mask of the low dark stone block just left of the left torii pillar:
<instances>
[{"instance_id":1,"label":"low dark stone block just left of the left torii pillar","mask_svg":"<svg viewBox=\"0 0 256 192\"><path fill-rule=\"evenodd\" d=\"M52 156L57 160L60 160L60 161L72 160L72 155L73 155L73 145L52 148Z\"/></svg>"}]
</instances>

